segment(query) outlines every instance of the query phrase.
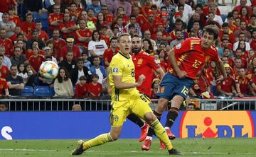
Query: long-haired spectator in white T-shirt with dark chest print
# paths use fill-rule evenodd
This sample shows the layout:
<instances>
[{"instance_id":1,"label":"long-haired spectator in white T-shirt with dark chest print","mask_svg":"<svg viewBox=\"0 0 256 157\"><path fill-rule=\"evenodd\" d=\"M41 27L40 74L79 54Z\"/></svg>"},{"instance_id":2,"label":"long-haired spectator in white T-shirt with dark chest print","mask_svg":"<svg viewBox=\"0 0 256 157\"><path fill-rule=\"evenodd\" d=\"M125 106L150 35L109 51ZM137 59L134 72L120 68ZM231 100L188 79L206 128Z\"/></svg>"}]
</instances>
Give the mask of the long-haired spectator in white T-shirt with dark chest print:
<instances>
[{"instance_id":1,"label":"long-haired spectator in white T-shirt with dark chest print","mask_svg":"<svg viewBox=\"0 0 256 157\"><path fill-rule=\"evenodd\" d=\"M88 51L89 56L95 57L98 56L102 59L103 53L107 50L107 44L104 40L100 40L100 32L94 30L92 33L92 40L89 42Z\"/></svg>"}]
</instances>

